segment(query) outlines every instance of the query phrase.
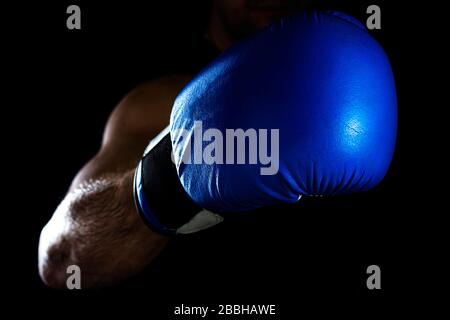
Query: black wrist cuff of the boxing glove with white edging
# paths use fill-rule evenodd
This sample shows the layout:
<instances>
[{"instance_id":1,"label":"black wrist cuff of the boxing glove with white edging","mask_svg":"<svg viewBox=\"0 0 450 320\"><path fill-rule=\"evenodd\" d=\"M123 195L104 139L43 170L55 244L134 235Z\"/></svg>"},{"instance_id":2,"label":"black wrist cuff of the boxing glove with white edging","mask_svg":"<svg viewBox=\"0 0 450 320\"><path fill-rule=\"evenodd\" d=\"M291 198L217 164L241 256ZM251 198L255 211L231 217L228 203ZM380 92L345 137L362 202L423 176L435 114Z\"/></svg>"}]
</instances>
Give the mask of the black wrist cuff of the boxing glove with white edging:
<instances>
[{"instance_id":1,"label":"black wrist cuff of the boxing glove with white edging","mask_svg":"<svg viewBox=\"0 0 450 320\"><path fill-rule=\"evenodd\" d=\"M150 142L136 168L134 198L147 225L165 235L193 233L223 220L196 205L184 190L172 162L168 129Z\"/></svg>"}]
</instances>

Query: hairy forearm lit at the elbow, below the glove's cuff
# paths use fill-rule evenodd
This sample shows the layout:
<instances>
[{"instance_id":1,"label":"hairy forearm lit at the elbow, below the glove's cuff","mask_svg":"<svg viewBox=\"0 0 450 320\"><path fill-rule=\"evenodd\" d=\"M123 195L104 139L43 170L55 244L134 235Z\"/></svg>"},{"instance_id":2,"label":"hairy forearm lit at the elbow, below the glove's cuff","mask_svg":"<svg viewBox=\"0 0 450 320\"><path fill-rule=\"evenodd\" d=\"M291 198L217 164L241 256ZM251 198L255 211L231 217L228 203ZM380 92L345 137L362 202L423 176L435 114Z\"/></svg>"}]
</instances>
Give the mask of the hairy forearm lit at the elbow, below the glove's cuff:
<instances>
[{"instance_id":1,"label":"hairy forearm lit at the elbow, below the glove's cuff","mask_svg":"<svg viewBox=\"0 0 450 320\"><path fill-rule=\"evenodd\" d=\"M52 287L64 287L70 265L81 269L83 287L114 284L142 270L166 238L136 212L133 171L89 179L71 188L44 227L39 271Z\"/></svg>"}]
</instances>

